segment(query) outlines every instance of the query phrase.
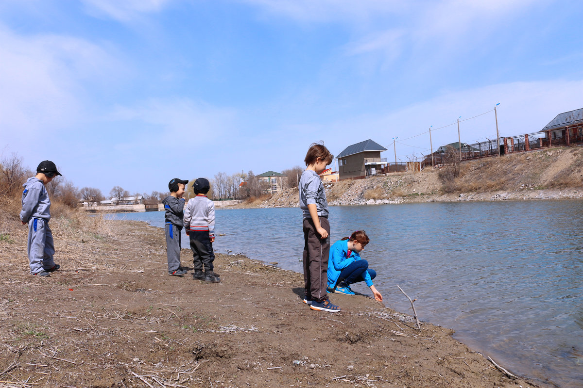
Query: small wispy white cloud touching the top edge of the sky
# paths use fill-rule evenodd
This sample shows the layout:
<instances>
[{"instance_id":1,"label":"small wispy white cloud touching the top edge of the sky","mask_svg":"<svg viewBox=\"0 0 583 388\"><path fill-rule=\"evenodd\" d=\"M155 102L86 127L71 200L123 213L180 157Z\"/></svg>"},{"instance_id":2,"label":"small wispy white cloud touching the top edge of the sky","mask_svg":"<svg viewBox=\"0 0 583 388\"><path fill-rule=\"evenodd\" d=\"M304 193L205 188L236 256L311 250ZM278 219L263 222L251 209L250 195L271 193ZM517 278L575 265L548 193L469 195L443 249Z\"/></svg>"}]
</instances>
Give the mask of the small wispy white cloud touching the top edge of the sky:
<instances>
[{"instance_id":1,"label":"small wispy white cloud touching the top edge of the sky","mask_svg":"<svg viewBox=\"0 0 583 388\"><path fill-rule=\"evenodd\" d=\"M160 12L171 0L82 0L90 11L120 22L129 22L146 13Z\"/></svg>"}]
</instances>

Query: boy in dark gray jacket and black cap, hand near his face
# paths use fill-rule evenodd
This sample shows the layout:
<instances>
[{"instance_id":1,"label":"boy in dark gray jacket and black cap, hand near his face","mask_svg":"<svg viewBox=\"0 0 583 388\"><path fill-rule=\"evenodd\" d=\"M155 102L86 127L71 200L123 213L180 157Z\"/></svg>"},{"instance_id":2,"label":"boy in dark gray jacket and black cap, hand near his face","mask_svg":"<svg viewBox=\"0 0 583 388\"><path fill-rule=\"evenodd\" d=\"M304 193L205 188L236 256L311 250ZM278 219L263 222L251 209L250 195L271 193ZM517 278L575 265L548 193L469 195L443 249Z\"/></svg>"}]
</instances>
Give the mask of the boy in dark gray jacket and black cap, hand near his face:
<instances>
[{"instance_id":1,"label":"boy in dark gray jacket and black cap, hand near his face","mask_svg":"<svg viewBox=\"0 0 583 388\"><path fill-rule=\"evenodd\" d=\"M180 266L180 233L182 231L182 218L184 217L184 194L185 185L188 180L180 180L174 178L168 183L168 190L170 195L164 198L162 203L166 213L166 225L164 225L164 232L166 232L166 253L168 257L168 275L182 276L187 273L186 270Z\"/></svg>"}]
</instances>

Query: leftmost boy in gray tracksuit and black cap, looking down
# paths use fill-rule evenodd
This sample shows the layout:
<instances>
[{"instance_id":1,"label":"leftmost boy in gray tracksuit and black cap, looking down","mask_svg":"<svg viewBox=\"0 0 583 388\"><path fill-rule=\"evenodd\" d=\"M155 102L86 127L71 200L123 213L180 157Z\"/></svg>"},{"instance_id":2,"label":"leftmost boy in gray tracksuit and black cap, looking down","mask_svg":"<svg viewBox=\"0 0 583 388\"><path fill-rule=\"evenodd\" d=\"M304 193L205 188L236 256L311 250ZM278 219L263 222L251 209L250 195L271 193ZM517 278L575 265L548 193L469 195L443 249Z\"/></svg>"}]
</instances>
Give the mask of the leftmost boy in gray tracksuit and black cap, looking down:
<instances>
[{"instance_id":1,"label":"leftmost boy in gray tracksuit and black cap, looking down","mask_svg":"<svg viewBox=\"0 0 583 388\"><path fill-rule=\"evenodd\" d=\"M55 264L53 255L55 245L52 240L51 228L48 222L51 219L51 200L48 198L45 184L55 176L61 175L57 166L51 161L43 161L37 167L37 175L30 177L22 192L22 211L20 220L22 225L29 224L29 239L27 254L29 256L30 274L50 276L60 265Z\"/></svg>"}]
</instances>

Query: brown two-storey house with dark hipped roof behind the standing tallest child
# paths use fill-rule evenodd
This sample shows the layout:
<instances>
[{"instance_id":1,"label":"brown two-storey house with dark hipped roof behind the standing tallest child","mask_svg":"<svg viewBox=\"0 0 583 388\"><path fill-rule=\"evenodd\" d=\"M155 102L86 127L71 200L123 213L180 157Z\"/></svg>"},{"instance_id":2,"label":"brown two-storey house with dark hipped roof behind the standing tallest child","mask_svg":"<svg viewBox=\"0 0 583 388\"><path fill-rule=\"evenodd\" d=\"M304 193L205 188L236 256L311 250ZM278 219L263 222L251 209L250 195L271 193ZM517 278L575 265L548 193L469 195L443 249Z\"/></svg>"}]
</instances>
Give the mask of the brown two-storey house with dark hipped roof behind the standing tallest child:
<instances>
[{"instance_id":1,"label":"brown two-storey house with dark hipped roof behind the standing tallest child","mask_svg":"<svg viewBox=\"0 0 583 388\"><path fill-rule=\"evenodd\" d=\"M339 179L361 179L385 173L388 163L387 158L381 158L382 151L387 148L370 139L349 145L336 156Z\"/></svg>"}]
</instances>

